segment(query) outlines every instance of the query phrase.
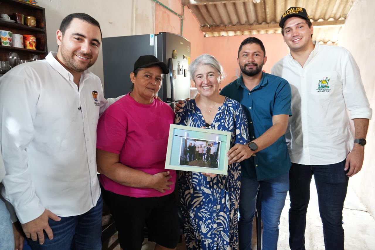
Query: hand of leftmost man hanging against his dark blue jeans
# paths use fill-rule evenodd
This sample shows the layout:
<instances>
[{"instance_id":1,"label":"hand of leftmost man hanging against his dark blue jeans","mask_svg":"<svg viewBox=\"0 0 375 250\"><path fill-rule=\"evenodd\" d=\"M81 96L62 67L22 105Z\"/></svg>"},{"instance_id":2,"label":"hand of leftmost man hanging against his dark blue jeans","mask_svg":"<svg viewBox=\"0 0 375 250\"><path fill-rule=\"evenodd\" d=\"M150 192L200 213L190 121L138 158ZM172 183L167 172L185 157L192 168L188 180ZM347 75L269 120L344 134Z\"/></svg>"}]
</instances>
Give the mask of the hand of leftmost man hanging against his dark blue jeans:
<instances>
[{"instance_id":1,"label":"hand of leftmost man hanging against his dark blue jeans","mask_svg":"<svg viewBox=\"0 0 375 250\"><path fill-rule=\"evenodd\" d=\"M45 209L42 215L40 215L36 219L31 220L30 222L27 222L25 224L21 224L26 237L31 238L31 240L33 241L37 241L39 238L39 244L43 244L44 243L43 230L44 230L49 240L52 240L53 233L52 233L52 229L48 225L48 218L51 218L54 221L61 220L61 218L58 217L56 214Z\"/></svg>"}]
</instances>

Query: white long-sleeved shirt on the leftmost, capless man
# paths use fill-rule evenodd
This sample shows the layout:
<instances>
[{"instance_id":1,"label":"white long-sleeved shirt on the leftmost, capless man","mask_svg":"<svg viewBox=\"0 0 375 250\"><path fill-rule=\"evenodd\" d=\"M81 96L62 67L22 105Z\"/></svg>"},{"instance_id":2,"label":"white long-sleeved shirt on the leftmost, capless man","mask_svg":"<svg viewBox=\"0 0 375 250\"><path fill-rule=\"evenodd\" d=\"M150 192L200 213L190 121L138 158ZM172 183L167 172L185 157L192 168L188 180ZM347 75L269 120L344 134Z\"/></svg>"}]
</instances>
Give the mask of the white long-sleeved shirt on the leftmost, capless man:
<instances>
[{"instance_id":1,"label":"white long-sleeved shirt on the leftmost, capless man","mask_svg":"<svg viewBox=\"0 0 375 250\"><path fill-rule=\"evenodd\" d=\"M2 193L21 223L44 209L64 217L86 213L101 193L96 125L110 103L98 76L84 71L78 89L55 56L50 52L0 78Z\"/></svg>"}]
</instances>

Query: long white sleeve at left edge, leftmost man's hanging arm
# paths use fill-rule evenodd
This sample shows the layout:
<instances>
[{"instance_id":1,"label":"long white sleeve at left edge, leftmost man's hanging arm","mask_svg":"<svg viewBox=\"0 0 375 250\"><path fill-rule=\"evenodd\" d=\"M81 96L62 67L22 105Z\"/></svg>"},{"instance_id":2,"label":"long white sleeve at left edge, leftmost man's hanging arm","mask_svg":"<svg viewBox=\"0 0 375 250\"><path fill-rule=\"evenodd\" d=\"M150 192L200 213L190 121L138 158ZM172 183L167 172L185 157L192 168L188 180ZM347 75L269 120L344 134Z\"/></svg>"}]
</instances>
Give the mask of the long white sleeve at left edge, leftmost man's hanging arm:
<instances>
[{"instance_id":1,"label":"long white sleeve at left edge, leftmost man's hanging arm","mask_svg":"<svg viewBox=\"0 0 375 250\"><path fill-rule=\"evenodd\" d=\"M0 143L6 170L2 193L21 223L36 219L44 211L31 180L26 152L33 140L40 86L28 79L17 70L0 79Z\"/></svg>"}]
</instances>

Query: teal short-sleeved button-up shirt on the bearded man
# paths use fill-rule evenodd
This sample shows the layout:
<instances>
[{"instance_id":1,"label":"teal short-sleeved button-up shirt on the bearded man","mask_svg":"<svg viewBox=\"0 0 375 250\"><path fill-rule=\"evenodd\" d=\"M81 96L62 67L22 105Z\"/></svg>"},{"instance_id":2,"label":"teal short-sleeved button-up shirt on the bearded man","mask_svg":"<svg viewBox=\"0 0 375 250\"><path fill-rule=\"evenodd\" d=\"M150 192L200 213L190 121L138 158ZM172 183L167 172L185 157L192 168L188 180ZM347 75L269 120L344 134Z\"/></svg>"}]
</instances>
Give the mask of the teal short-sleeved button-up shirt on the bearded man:
<instances>
[{"instance_id":1,"label":"teal short-sleeved button-up shirt on the bearded man","mask_svg":"<svg viewBox=\"0 0 375 250\"><path fill-rule=\"evenodd\" d=\"M249 122L250 140L260 137L272 127L272 116L291 116L291 88L287 80L272 74L262 74L258 86L249 91L242 76L229 83L221 95L241 103ZM250 141L249 140L249 141ZM241 175L255 180L273 179L288 173L291 162L285 136L241 162Z\"/></svg>"}]
</instances>

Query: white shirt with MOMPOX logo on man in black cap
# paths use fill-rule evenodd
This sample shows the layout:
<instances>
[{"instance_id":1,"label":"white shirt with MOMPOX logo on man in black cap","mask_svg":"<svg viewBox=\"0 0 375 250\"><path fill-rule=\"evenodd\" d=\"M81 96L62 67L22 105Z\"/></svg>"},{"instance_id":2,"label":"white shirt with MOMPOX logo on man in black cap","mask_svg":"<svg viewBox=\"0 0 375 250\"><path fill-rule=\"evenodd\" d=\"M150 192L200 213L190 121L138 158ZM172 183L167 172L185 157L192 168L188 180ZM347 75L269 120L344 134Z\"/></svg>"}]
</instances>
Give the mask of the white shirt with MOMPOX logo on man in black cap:
<instances>
[{"instance_id":1,"label":"white shirt with MOMPOX logo on man in black cap","mask_svg":"<svg viewBox=\"0 0 375 250\"><path fill-rule=\"evenodd\" d=\"M271 73L286 79L292 89L293 116L285 134L291 162L328 165L343 161L354 144L349 119L372 116L350 52L315 43L303 67L289 54Z\"/></svg>"}]
</instances>

